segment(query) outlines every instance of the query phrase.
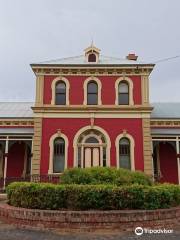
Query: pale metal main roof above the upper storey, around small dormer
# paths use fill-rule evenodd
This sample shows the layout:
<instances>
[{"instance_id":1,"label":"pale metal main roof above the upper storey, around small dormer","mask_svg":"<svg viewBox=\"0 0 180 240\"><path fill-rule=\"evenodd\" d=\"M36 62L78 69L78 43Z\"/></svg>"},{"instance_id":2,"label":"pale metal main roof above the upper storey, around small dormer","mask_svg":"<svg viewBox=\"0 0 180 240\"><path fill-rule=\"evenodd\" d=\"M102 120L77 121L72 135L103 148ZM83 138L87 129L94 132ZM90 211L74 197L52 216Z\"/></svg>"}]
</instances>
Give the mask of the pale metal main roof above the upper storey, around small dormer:
<instances>
[{"instance_id":1,"label":"pale metal main roof above the upper storey, around small dormer","mask_svg":"<svg viewBox=\"0 0 180 240\"><path fill-rule=\"evenodd\" d=\"M35 65L149 65L151 63L145 63L141 61L128 60L126 58L115 58L104 55L99 55L99 61L97 63L87 62L84 55L60 58L45 62L33 63ZM154 64L152 64L154 66Z\"/></svg>"}]
</instances>

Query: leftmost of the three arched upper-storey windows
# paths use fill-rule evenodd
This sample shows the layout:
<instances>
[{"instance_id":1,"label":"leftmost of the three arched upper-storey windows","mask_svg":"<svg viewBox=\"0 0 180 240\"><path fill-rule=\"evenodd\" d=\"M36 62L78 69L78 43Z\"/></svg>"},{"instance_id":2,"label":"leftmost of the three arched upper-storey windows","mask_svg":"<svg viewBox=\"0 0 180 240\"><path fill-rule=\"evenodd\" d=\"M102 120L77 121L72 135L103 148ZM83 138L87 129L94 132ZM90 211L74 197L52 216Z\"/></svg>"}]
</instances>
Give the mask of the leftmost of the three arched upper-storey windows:
<instances>
[{"instance_id":1,"label":"leftmost of the three arched upper-storey windows","mask_svg":"<svg viewBox=\"0 0 180 240\"><path fill-rule=\"evenodd\" d=\"M66 84L63 81L56 83L56 99L55 104L66 105Z\"/></svg>"}]
</instances>

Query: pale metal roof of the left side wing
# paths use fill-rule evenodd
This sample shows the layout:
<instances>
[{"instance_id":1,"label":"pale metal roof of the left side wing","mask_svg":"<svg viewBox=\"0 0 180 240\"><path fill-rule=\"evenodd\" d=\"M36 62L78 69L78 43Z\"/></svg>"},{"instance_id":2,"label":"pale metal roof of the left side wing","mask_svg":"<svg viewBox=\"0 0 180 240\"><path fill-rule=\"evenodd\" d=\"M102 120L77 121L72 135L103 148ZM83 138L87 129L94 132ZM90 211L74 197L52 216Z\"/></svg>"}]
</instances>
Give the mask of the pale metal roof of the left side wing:
<instances>
[{"instance_id":1,"label":"pale metal roof of the left side wing","mask_svg":"<svg viewBox=\"0 0 180 240\"><path fill-rule=\"evenodd\" d=\"M33 118L33 102L0 102L0 119Z\"/></svg>"}]
</instances>

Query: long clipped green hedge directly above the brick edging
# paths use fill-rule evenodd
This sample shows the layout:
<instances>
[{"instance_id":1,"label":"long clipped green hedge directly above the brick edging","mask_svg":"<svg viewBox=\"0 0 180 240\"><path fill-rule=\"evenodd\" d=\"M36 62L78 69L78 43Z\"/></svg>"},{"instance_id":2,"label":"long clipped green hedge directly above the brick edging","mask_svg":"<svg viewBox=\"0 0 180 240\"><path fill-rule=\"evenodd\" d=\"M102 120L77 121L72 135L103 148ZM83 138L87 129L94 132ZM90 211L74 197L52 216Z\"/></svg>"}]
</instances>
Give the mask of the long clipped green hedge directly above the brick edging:
<instances>
[{"instance_id":1,"label":"long clipped green hedge directly above the brick edging","mask_svg":"<svg viewBox=\"0 0 180 240\"><path fill-rule=\"evenodd\" d=\"M7 187L7 194L9 204L34 209L158 209L180 204L180 187L170 184L119 187L12 183Z\"/></svg>"}]
</instances>

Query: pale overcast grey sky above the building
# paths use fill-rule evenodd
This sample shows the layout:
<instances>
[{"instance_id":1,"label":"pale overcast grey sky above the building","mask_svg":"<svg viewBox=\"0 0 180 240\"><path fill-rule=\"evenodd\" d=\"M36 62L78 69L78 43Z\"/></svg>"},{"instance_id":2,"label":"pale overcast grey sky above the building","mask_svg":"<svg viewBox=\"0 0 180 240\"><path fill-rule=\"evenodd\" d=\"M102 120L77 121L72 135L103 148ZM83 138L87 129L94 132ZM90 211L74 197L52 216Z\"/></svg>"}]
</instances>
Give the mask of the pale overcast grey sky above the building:
<instances>
[{"instance_id":1,"label":"pale overcast grey sky above the building","mask_svg":"<svg viewBox=\"0 0 180 240\"><path fill-rule=\"evenodd\" d=\"M30 63L101 53L156 62L180 55L179 0L0 0L0 101L34 101ZM151 102L180 102L180 58L156 64Z\"/></svg>"}]
</instances>

